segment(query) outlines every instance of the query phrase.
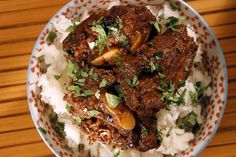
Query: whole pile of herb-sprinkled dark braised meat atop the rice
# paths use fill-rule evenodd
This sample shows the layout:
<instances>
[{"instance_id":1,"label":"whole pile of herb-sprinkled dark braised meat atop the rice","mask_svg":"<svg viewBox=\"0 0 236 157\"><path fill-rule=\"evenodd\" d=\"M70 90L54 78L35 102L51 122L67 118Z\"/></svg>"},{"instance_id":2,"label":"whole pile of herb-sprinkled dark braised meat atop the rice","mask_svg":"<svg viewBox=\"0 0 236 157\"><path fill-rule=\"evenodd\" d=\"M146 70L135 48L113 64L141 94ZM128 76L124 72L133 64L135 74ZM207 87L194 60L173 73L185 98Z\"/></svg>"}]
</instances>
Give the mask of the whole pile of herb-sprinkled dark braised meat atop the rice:
<instances>
[{"instance_id":1,"label":"whole pile of herb-sprinkled dark braised meat atop the rice","mask_svg":"<svg viewBox=\"0 0 236 157\"><path fill-rule=\"evenodd\" d=\"M164 19L160 31L146 7L115 6L91 15L64 40L71 79L64 99L89 142L159 147L156 112L171 101L165 93L187 79L198 49L177 21Z\"/></svg>"}]
</instances>

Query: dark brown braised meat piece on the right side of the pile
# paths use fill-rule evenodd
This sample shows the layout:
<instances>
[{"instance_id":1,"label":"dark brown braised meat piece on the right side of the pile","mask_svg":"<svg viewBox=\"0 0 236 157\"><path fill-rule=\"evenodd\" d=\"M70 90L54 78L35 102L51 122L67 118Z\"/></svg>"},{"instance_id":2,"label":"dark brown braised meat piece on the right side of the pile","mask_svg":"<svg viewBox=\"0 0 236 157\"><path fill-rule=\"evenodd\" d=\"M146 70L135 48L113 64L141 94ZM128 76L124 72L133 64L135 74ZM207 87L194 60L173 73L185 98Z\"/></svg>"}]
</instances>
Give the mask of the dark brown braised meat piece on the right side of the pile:
<instances>
[{"instance_id":1,"label":"dark brown braised meat piece on the right side of the pile","mask_svg":"<svg viewBox=\"0 0 236 157\"><path fill-rule=\"evenodd\" d=\"M180 32L167 31L156 36L152 44L144 44L138 49L137 56L127 57L116 69L117 80L121 84L126 105L140 116L154 116L165 106L161 93L156 89L160 85L158 71L145 76L150 61L157 63L165 75L165 82L172 82L176 88L179 80L186 80L191 71L193 59L198 46L189 37L185 26L178 27ZM163 57L155 59L155 53L163 52ZM186 71L185 69L189 69ZM132 79L136 75L139 84L130 87L124 79Z\"/></svg>"}]
</instances>

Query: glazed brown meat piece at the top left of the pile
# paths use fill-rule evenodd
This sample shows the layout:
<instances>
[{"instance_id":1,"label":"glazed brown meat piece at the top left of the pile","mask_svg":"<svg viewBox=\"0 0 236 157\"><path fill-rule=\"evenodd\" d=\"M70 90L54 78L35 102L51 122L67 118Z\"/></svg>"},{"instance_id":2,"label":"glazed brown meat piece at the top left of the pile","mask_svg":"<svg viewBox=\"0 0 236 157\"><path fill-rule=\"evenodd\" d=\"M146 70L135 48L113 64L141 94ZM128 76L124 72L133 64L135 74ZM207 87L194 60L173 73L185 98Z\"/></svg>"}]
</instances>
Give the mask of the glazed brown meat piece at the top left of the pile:
<instances>
[{"instance_id":1,"label":"glazed brown meat piece at the top left of the pile","mask_svg":"<svg viewBox=\"0 0 236 157\"><path fill-rule=\"evenodd\" d=\"M117 21L118 18L120 20ZM105 47L104 53L114 46L122 47L119 36L109 36L109 27L114 27L114 25L121 25L118 31L129 41L128 49L132 49L134 52L139 45L147 41L151 32L149 24L151 20L155 20L155 17L146 7L114 6L108 11L91 15L77 26L75 31L71 32L63 41L63 49L70 52L69 57L76 62L87 61L91 63L100 55L98 46L93 49L89 47L89 43L96 42L99 35L92 31L91 25L100 21L108 36L107 44L109 48Z\"/></svg>"}]
</instances>

